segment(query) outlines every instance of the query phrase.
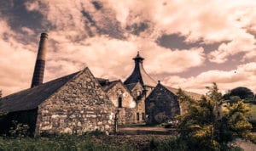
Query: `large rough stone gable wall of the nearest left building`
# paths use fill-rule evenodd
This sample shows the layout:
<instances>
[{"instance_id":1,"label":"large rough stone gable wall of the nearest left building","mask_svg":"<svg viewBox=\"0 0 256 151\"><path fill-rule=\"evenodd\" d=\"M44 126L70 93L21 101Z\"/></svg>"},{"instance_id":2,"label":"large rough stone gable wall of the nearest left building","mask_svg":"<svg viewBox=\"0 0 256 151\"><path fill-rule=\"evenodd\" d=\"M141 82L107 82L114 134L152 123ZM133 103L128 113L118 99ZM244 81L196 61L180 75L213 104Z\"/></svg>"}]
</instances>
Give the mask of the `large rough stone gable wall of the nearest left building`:
<instances>
[{"instance_id":1,"label":"large rough stone gable wall of the nearest left building","mask_svg":"<svg viewBox=\"0 0 256 151\"><path fill-rule=\"evenodd\" d=\"M38 106L36 133L113 131L115 112L102 87L85 69Z\"/></svg>"}]
</instances>

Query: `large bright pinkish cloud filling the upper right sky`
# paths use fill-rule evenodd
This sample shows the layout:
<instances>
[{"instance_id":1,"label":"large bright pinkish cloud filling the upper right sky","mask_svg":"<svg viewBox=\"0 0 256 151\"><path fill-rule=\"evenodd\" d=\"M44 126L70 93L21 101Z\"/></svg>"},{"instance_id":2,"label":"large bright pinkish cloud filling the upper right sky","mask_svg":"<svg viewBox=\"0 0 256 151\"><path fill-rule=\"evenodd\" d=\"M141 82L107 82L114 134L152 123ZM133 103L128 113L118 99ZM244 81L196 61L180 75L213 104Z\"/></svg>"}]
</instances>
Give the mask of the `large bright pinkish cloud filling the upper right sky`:
<instances>
[{"instance_id":1,"label":"large bright pinkish cloud filling the upper right sky","mask_svg":"<svg viewBox=\"0 0 256 151\"><path fill-rule=\"evenodd\" d=\"M108 1L122 26L130 27L150 20L147 36L180 34L185 42L223 42L208 58L214 63L224 63L230 55L255 51L252 33L256 2L239 1ZM202 7L203 6L203 7ZM171 14L171 15L170 15ZM248 33L249 31L249 33ZM229 43L225 43L229 42Z\"/></svg>"}]
</instances>

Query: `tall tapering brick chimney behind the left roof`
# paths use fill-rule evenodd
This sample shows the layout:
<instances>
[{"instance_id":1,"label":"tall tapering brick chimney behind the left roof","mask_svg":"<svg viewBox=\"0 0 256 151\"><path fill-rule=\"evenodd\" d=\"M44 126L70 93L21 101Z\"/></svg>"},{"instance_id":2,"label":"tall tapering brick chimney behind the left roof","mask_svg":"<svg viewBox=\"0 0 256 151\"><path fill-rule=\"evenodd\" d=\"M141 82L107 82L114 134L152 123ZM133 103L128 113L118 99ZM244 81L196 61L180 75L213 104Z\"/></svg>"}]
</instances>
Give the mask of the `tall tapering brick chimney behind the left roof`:
<instances>
[{"instance_id":1,"label":"tall tapering brick chimney behind the left roof","mask_svg":"<svg viewBox=\"0 0 256 151\"><path fill-rule=\"evenodd\" d=\"M47 46L47 33L41 33L37 61L32 77L31 87L36 87L43 83L44 81L44 65L45 65L45 56L46 56L46 46Z\"/></svg>"}]
</instances>

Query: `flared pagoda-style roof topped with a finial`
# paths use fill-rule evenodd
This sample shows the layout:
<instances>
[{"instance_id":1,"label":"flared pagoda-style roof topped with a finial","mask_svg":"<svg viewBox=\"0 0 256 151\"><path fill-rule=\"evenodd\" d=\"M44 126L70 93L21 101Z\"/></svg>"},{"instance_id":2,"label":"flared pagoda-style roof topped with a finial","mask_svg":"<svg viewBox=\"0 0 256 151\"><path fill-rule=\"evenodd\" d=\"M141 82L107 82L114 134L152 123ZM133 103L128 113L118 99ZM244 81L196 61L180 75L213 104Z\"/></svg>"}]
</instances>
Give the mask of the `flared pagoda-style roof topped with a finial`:
<instances>
[{"instance_id":1,"label":"flared pagoda-style roof topped with a finial","mask_svg":"<svg viewBox=\"0 0 256 151\"><path fill-rule=\"evenodd\" d=\"M135 67L134 70L131 73L131 76L129 76L125 80L125 85L131 84L131 83L137 83L139 81L142 85L155 87L157 82L154 81L152 77L150 77L147 72L143 68L143 58L137 53L137 56L134 58L135 61Z\"/></svg>"}]
</instances>

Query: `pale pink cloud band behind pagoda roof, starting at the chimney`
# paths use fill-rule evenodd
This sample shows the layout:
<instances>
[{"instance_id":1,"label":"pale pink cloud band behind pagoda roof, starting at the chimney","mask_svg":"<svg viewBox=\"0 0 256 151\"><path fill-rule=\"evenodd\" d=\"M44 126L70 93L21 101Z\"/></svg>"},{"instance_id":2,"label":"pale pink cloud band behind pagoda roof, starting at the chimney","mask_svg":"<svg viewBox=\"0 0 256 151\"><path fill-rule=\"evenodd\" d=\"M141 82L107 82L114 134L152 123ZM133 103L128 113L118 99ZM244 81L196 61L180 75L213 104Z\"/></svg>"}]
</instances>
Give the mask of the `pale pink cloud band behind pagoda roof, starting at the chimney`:
<instances>
[{"instance_id":1,"label":"pale pink cloud band behind pagoda roof, starting at the chimney","mask_svg":"<svg viewBox=\"0 0 256 151\"><path fill-rule=\"evenodd\" d=\"M145 69L154 74L183 72L190 67L200 66L205 60L203 48L171 50L137 36L131 37L128 41L108 36L94 36L83 41L70 42L65 34L50 32L49 41L57 43L54 47L49 46L47 70L59 70L51 74L52 77L47 76L47 81L56 75L61 76L82 69L85 65L88 65L96 76L125 80L133 70L132 58L137 55L137 51L145 58Z\"/></svg>"}]
</instances>

